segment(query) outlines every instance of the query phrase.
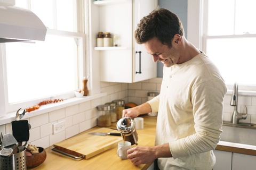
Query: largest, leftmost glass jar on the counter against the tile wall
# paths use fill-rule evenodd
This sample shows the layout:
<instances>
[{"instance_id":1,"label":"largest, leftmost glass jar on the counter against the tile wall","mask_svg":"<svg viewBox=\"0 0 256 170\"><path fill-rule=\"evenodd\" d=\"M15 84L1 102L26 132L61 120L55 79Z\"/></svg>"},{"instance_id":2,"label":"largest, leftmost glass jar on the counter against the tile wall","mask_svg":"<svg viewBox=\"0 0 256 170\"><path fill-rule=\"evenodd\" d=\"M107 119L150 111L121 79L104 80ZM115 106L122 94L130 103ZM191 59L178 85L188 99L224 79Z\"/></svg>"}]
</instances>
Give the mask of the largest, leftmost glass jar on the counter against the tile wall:
<instances>
[{"instance_id":1,"label":"largest, leftmost glass jar on the counter against the tile wall","mask_svg":"<svg viewBox=\"0 0 256 170\"><path fill-rule=\"evenodd\" d=\"M111 125L110 118L110 106L109 105L100 105L97 106L98 109L98 126L108 127Z\"/></svg>"}]
</instances>

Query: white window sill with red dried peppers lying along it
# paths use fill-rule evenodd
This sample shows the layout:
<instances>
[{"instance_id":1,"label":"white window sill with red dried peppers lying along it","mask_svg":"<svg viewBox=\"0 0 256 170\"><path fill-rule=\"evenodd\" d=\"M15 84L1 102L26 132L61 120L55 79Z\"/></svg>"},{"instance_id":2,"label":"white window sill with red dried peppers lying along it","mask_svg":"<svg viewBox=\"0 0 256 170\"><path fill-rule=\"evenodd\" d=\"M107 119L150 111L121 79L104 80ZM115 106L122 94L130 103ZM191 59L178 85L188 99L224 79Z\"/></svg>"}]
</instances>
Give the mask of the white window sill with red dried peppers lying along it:
<instances>
[{"instance_id":1,"label":"white window sill with red dried peppers lying along it","mask_svg":"<svg viewBox=\"0 0 256 170\"><path fill-rule=\"evenodd\" d=\"M41 106L39 109L37 109L36 111L33 112L29 112L26 113L24 117L22 117L22 120L29 118L29 117L34 117L37 115L41 115L47 112L52 112L61 108L65 108L68 106L72 106L72 105L77 105L80 103L84 103L85 101L90 101L93 99L97 99L103 96L107 96L106 92L100 93L100 94L95 94L92 96L86 96L86 97L74 97L74 98L69 98L67 100L63 100L61 102L58 103L53 103L53 104L49 104L49 105L43 105ZM23 111L24 108L22 108ZM21 111L20 111L21 113ZM11 112L11 113L7 113L6 116L4 117L0 117L0 125L3 124L7 124L7 123L11 123L12 121L15 121L15 116L16 116L16 112Z\"/></svg>"}]
</instances>

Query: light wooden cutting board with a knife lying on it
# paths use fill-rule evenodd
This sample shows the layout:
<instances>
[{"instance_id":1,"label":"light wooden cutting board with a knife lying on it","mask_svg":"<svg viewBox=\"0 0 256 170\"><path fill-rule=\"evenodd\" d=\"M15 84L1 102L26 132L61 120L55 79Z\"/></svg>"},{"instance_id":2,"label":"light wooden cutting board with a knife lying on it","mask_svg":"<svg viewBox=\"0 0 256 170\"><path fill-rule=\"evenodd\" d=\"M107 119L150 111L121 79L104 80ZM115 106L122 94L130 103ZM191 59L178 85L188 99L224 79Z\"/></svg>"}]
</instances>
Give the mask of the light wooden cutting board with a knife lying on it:
<instances>
[{"instance_id":1,"label":"light wooden cutting board with a knife lying on it","mask_svg":"<svg viewBox=\"0 0 256 170\"><path fill-rule=\"evenodd\" d=\"M54 149L65 152L76 157L84 156L84 159L91 158L101 152L112 149L118 146L118 142L123 141L119 136L99 136L88 134L91 132L114 132L119 133L117 130L111 130L109 128L99 128L93 131L85 131L76 135L75 137L66 139L64 141L55 143Z\"/></svg>"}]
</instances>

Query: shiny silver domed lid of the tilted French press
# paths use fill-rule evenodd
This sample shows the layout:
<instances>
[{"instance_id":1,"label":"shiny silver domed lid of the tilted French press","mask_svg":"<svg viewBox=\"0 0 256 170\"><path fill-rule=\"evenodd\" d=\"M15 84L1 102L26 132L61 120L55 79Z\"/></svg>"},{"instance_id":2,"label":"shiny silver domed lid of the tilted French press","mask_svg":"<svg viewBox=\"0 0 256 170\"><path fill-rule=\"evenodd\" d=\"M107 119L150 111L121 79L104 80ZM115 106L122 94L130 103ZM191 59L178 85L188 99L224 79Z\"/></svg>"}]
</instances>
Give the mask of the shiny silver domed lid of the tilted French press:
<instances>
[{"instance_id":1,"label":"shiny silver domed lid of the tilted French press","mask_svg":"<svg viewBox=\"0 0 256 170\"><path fill-rule=\"evenodd\" d=\"M135 123L130 117L123 117L117 122L116 128L121 133L130 133L134 130Z\"/></svg>"}]
</instances>

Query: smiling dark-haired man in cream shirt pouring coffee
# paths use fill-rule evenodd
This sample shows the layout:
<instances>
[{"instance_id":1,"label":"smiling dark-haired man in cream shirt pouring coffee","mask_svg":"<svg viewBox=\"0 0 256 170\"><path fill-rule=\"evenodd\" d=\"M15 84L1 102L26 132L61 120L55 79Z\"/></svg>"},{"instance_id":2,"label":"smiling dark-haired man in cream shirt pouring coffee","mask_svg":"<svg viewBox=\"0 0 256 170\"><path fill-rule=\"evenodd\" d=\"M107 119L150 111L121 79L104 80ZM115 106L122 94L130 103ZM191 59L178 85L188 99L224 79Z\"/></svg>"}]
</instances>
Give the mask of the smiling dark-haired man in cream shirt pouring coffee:
<instances>
[{"instance_id":1,"label":"smiling dark-haired man in cream shirt pouring coffee","mask_svg":"<svg viewBox=\"0 0 256 170\"><path fill-rule=\"evenodd\" d=\"M134 165L157 159L159 169L213 169L227 89L217 67L184 36L178 16L157 8L140 20L135 39L162 62L160 94L123 117L157 112L154 147L127 151Z\"/></svg>"}]
</instances>

